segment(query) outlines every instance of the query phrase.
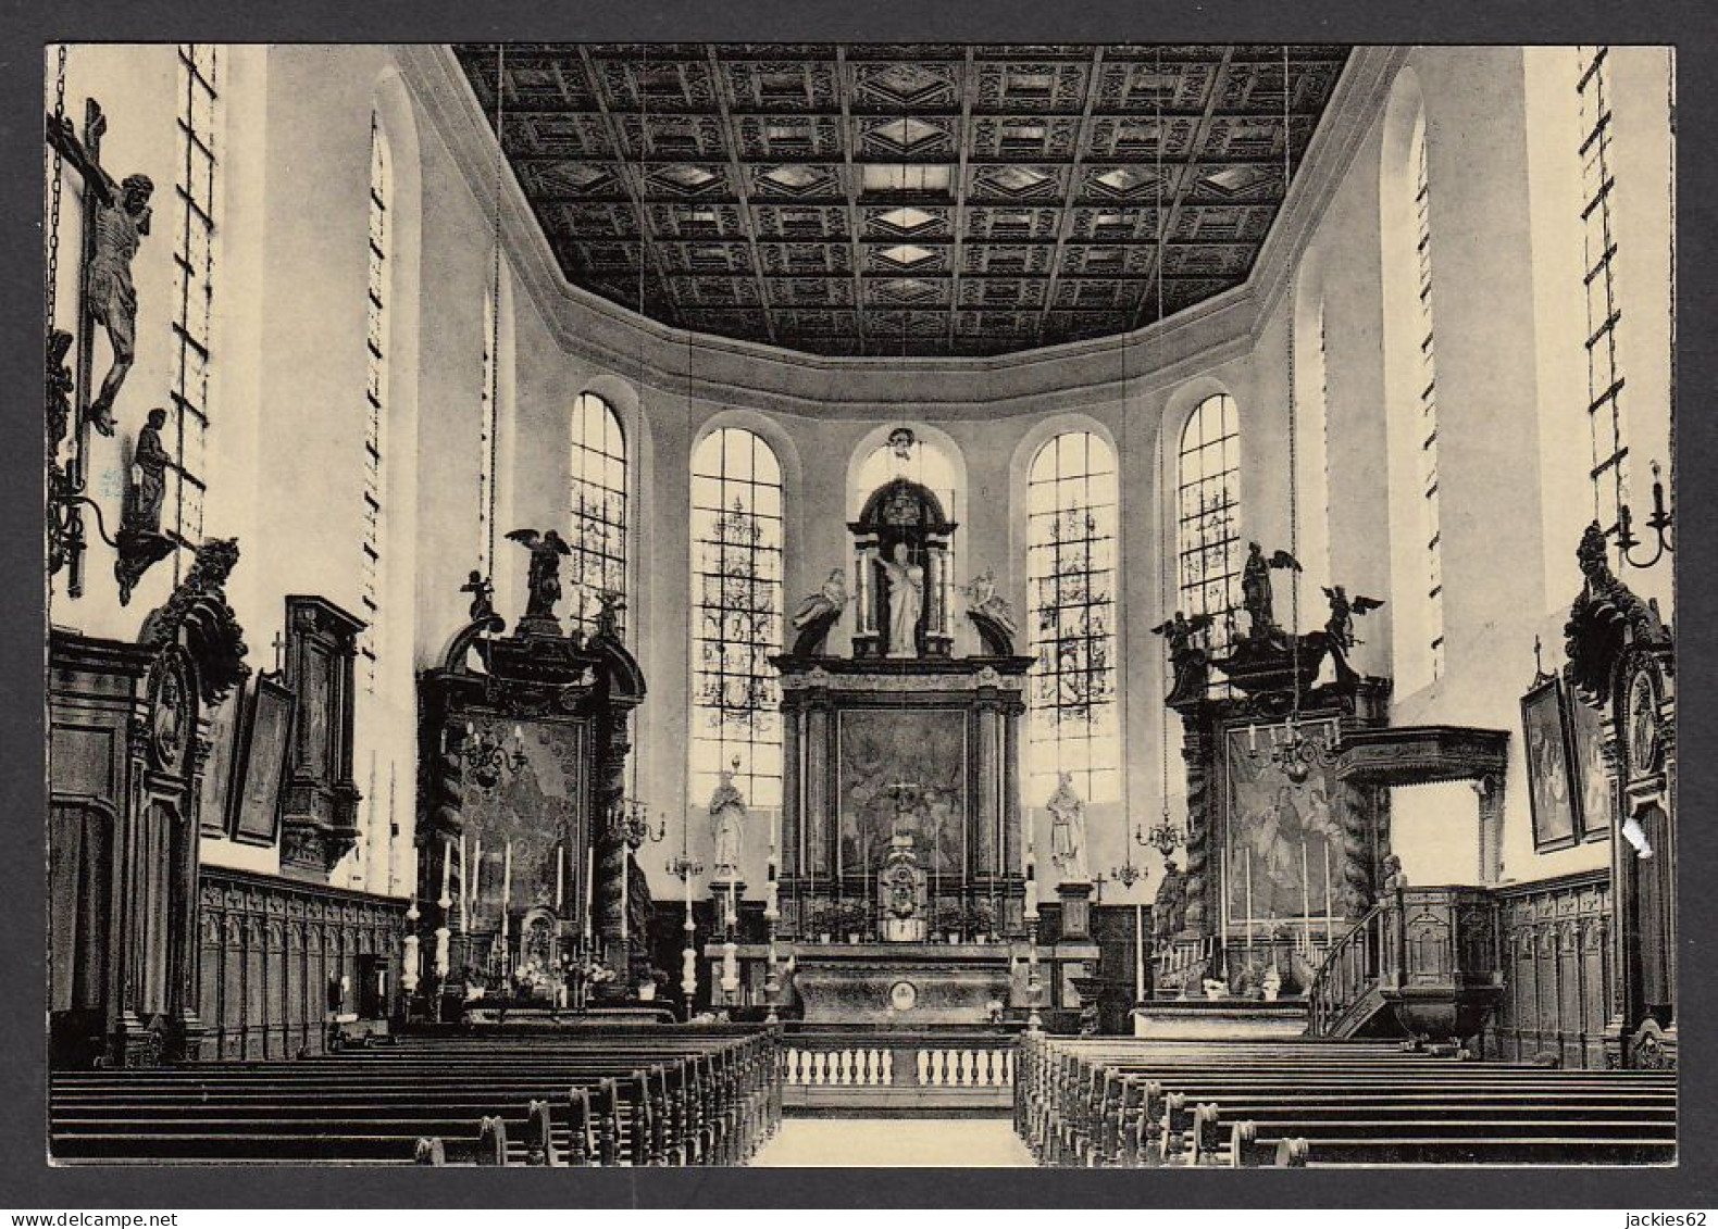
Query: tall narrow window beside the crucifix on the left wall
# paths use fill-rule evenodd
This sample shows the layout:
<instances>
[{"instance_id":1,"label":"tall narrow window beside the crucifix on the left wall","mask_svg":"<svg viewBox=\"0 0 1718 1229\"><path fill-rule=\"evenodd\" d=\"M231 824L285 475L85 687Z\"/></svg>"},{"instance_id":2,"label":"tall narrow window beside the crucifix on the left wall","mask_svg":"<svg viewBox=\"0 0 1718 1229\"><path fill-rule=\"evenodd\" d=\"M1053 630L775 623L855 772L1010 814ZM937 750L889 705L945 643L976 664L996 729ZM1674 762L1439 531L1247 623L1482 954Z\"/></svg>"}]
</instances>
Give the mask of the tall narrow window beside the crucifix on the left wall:
<instances>
[{"instance_id":1,"label":"tall narrow window beside the crucifix on the left wall","mask_svg":"<svg viewBox=\"0 0 1718 1229\"><path fill-rule=\"evenodd\" d=\"M210 307L215 271L215 130L218 120L218 48L179 45L179 182L175 199L174 278L174 417L168 422L177 469L174 534L203 541L204 436L208 433ZM179 556L174 556L179 566Z\"/></svg>"}]
</instances>

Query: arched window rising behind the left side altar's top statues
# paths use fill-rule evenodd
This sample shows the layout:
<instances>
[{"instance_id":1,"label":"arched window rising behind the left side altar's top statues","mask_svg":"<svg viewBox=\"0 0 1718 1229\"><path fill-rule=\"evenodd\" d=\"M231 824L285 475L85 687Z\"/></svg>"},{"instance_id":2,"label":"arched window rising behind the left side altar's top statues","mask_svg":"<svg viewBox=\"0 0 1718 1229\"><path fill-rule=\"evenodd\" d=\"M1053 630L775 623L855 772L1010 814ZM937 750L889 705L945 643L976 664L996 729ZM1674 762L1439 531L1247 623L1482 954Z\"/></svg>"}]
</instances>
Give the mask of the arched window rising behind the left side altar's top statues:
<instances>
[{"instance_id":1,"label":"arched window rising behind the left side altar's top statues","mask_svg":"<svg viewBox=\"0 0 1718 1229\"><path fill-rule=\"evenodd\" d=\"M567 469L572 510L567 611L589 635L596 632L598 609L591 596L601 589L627 590L627 441L620 417L596 393L579 393L572 405Z\"/></svg>"}]
</instances>

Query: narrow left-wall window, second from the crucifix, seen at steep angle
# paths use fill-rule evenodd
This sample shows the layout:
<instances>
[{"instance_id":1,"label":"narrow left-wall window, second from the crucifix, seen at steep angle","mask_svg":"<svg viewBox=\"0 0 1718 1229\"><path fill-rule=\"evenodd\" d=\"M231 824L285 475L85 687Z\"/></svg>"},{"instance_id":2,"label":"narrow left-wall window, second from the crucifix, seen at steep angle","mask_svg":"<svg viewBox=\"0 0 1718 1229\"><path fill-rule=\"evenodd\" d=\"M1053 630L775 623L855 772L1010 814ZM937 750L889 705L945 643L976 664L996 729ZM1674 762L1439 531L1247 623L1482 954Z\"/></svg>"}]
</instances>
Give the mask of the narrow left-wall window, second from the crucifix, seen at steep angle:
<instances>
[{"instance_id":1,"label":"narrow left-wall window, second from the crucifix, seen at steep angle","mask_svg":"<svg viewBox=\"0 0 1718 1229\"><path fill-rule=\"evenodd\" d=\"M359 556L359 602L369 623L359 654L366 692L376 690L376 656L381 618L381 548L387 484L383 470L385 426L388 417L388 276L393 232L388 203L393 168L388 134L375 115L369 117L369 384L364 390L364 536Z\"/></svg>"}]
</instances>

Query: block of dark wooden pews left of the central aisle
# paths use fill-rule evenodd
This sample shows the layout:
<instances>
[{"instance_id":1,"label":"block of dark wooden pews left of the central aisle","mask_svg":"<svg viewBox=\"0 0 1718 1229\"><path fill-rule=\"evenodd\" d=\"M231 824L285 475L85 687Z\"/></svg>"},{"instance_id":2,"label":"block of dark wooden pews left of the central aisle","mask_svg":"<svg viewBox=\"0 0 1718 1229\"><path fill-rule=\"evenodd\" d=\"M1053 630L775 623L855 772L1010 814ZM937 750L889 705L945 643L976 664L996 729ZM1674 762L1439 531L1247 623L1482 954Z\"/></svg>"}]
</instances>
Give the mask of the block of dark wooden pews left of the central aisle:
<instances>
[{"instance_id":1,"label":"block of dark wooden pews left of the central aisle","mask_svg":"<svg viewBox=\"0 0 1718 1229\"><path fill-rule=\"evenodd\" d=\"M53 1140L74 1160L720 1164L775 1129L778 1071L758 1030L407 1038L301 1063L62 1073Z\"/></svg>"}]
</instances>

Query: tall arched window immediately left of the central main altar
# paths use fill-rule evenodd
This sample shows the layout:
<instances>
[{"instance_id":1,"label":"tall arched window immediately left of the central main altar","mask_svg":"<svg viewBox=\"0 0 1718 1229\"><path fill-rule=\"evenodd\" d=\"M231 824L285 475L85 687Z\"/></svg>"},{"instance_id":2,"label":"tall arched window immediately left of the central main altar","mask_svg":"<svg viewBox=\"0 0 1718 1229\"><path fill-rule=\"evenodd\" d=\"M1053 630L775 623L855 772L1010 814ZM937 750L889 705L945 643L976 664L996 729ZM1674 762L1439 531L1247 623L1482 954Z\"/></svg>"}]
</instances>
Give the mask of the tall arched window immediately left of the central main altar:
<instances>
[{"instance_id":1,"label":"tall arched window immediately left of the central main altar","mask_svg":"<svg viewBox=\"0 0 1718 1229\"><path fill-rule=\"evenodd\" d=\"M752 807L782 805L782 465L718 427L692 451L692 798L739 759Z\"/></svg>"}]
</instances>

